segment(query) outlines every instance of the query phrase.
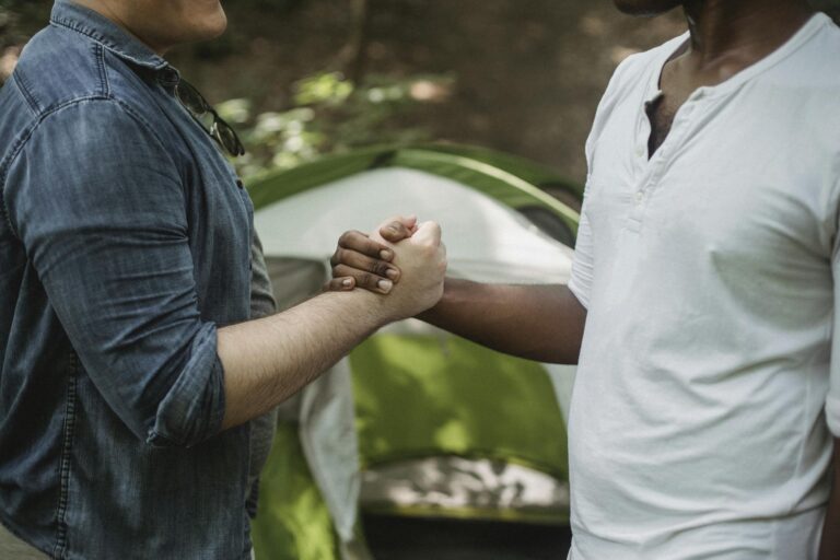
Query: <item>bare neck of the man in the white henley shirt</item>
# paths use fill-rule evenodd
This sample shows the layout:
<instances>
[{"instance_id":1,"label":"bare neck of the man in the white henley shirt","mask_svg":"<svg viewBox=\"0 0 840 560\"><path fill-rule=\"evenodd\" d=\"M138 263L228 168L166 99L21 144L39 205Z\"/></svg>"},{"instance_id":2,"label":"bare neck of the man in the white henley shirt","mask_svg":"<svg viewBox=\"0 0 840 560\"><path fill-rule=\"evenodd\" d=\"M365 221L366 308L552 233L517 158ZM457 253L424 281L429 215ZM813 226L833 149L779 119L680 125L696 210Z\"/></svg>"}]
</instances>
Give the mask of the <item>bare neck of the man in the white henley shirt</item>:
<instances>
[{"instance_id":1,"label":"bare neck of the man in the white henley shirt","mask_svg":"<svg viewBox=\"0 0 840 560\"><path fill-rule=\"evenodd\" d=\"M814 11L807 0L686 0L689 56L699 66L761 58L781 46Z\"/></svg>"}]
</instances>

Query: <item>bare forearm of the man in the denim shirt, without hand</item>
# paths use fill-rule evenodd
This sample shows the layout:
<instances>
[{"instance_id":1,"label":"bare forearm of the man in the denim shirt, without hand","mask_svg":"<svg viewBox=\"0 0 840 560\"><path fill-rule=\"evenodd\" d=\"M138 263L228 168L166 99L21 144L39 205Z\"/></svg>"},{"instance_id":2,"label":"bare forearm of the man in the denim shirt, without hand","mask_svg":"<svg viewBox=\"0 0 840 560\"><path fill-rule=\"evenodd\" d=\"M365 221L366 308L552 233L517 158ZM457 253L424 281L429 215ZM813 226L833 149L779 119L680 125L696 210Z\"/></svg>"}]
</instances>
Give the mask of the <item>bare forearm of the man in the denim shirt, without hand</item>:
<instances>
[{"instance_id":1,"label":"bare forearm of the man in the denim shirt, without hand","mask_svg":"<svg viewBox=\"0 0 840 560\"><path fill-rule=\"evenodd\" d=\"M326 293L270 317L219 329L223 429L266 413L386 323L382 296Z\"/></svg>"}]
</instances>

